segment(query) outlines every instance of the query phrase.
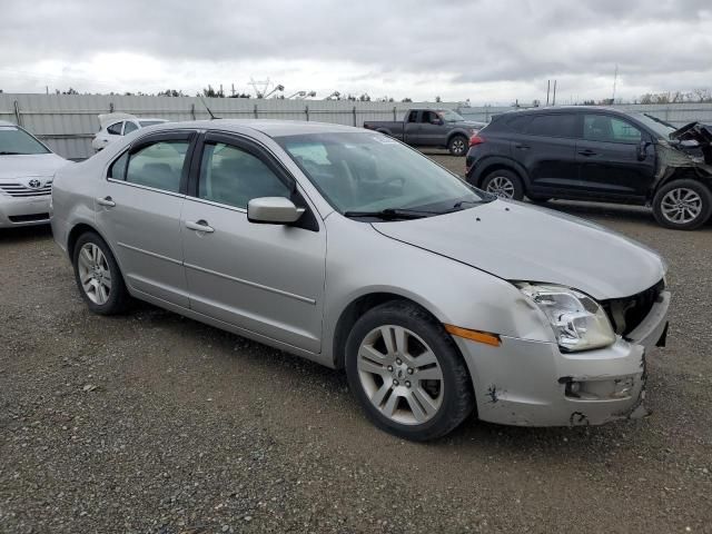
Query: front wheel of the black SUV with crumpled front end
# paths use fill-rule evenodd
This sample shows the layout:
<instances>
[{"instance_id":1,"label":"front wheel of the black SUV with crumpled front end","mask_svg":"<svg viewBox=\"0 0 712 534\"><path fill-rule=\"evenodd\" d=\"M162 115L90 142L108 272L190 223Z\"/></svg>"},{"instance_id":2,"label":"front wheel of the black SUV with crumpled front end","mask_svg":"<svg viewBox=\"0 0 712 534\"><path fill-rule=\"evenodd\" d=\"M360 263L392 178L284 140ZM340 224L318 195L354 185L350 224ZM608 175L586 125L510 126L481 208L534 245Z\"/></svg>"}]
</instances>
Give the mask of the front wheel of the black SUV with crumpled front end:
<instances>
[{"instance_id":1,"label":"front wheel of the black SUV with crumpled front end","mask_svg":"<svg viewBox=\"0 0 712 534\"><path fill-rule=\"evenodd\" d=\"M655 194L653 214L655 220L666 228L694 230L712 214L712 192L696 180L671 181Z\"/></svg>"}]
</instances>

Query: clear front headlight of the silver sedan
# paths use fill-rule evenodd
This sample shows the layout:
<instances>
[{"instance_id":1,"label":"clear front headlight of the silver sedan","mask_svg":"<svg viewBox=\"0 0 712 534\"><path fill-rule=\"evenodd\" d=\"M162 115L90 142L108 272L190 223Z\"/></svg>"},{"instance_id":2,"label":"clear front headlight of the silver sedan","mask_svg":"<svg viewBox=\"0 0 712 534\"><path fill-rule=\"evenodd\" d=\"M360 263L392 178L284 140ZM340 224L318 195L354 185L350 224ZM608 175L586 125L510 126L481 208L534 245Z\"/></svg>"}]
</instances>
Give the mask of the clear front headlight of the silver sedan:
<instances>
[{"instance_id":1,"label":"clear front headlight of the silver sedan","mask_svg":"<svg viewBox=\"0 0 712 534\"><path fill-rule=\"evenodd\" d=\"M558 346L567 352L605 347L615 333L603 308L590 296L568 287L517 283L520 290L544 312Z\"/></svg>"}]
</instances>

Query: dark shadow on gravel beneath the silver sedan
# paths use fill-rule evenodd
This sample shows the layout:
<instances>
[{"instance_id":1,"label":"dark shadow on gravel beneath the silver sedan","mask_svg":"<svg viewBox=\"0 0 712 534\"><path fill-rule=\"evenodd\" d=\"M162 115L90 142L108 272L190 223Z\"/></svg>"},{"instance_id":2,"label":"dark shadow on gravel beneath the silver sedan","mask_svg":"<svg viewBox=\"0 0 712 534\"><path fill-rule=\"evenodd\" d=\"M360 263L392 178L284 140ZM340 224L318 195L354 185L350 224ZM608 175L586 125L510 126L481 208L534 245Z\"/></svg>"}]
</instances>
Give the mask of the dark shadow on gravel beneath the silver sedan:
<instances>
[{"instance_id":1,"label":"dark shadow on gravel beneath the silver sedan","mask_svg":"<svg viewBox=\"0 0 712 534\"><path fill-rule=\"evenodd\" d=\"M270 348L238 335L182 318L149 304L137 303L128 317L147 326L178 330L195 336L200 345L217 349L224 370L233 373L233 367L249 363L258 375L280 375L283 383L291 378L304 380L304 387L291 389L291 402L308 403L316 390L324 394L325 416L342 421L339 434L343 439L358 435L364 446L392 446L405 443L376 429L362 413L356 399L348 390L346 376L340 370L329 369L314 362ZM237 352L236 352L237 350ZM215 353L214 353L215 355ZM227 386L228 388L230 386ZM225 392L229 397L230 392ZM300 398L301 397L301 398ZM328 415L327 415L328 414ZM463 425L448 436L425 443L409 444L423 453L436 453L441 458L451 455L485 455L492 458L512 457L581 457L606 455L621 446L621 442L635 443L639 432L645 432L645 419L621 422L595 427L514 427L478 422L468 417ZM340 438L339 438L340 439ZM370 445L365 445L370 442ZM336 444L335 444L336 445ZM625 448L625 447L624 447ZM454 457L453 457L454 459Z\"/></svg>"}]
</instances>

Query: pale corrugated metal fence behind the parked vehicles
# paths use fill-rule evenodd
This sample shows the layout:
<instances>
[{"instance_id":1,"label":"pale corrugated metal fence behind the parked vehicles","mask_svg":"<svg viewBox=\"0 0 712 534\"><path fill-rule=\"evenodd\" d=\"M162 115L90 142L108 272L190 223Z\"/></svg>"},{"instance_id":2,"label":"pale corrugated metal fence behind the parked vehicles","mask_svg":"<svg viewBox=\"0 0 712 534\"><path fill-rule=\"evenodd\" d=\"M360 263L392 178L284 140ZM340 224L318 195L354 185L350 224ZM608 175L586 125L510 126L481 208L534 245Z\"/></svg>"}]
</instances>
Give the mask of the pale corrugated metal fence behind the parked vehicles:
<instances>
[{"instance_id":1,"label":"pale corrugated metal fence behind the parked vehicles","mask_svg":"<svg viewBox=\"0 0 712 534\"><path fill-rule=\"evenodd\" d=\"M207 105L220 118L314 120L363 126L365 120L399 120L412 107L456 109L467 119L488 121L511 107L458 108L455 102L353 102L348 100L256 100L209 98ZM693 120L712 123L712 103L621 105L682 126ZM119 95L13 95L0 93L0 120L20 123L59 155L82 159L91 156L91 139L99 130L99 113L122 111L168 120L209 118L194 97L126 97Z\"/></svg>"}]
</instances>

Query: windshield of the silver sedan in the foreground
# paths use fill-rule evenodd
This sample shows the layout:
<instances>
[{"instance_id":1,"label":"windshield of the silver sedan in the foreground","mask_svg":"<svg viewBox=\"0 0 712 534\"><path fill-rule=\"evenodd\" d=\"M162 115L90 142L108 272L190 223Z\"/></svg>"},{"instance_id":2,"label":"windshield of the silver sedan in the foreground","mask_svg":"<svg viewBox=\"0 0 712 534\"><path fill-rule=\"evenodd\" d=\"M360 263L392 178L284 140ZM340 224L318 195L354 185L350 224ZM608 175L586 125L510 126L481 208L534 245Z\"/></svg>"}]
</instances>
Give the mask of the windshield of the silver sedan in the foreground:
<instances>
[{"instance_id":1,"label":"windshield of the silver sedan in the foreground","mask_svg":"<svg viewBox=\"0 0 712 534\"><path fill-rule=\"evenodd\" d=\"M382 134L309 134L275 140L342 214L406 209L438 215L491 200Z\"/></svg>"}]
</instances>

